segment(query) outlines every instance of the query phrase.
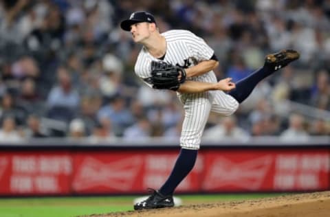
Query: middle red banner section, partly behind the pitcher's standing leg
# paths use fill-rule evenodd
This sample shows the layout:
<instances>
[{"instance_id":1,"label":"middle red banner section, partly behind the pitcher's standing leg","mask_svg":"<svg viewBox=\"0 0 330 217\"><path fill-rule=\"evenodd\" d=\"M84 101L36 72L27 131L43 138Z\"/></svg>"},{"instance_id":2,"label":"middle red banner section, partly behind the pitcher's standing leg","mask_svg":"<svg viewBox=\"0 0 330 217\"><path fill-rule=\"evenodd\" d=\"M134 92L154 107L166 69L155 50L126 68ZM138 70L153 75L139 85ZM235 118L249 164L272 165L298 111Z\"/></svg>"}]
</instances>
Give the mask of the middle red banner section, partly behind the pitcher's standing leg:
<instances>
[{"instance_id":1,"label":"middle red banner section, partly behind the pitcher's standing leg","mask_svg":"<svg viewBox=\"0 0 330 217\"><path fill-rule=\"evenodd\" d=\"M79 152L74 155L72 190L104 194L157 189L166 181L176 158L175 151ZM197 166L177 190L198 191L200 172Z\"/></svg>"}]
</instances>

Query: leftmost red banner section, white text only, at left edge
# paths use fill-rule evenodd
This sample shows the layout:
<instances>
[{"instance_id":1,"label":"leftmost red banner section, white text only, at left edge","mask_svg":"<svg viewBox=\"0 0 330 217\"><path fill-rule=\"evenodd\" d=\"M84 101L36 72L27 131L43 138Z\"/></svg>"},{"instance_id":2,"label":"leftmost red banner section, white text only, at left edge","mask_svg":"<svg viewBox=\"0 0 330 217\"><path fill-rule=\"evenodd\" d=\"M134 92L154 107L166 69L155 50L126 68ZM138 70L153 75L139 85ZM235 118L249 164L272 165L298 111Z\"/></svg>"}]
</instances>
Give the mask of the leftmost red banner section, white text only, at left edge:
<instances>
[{"instance_id":1,"label":"leftmost red banner section, white text only, at left edge","mask_svg":"<svg viewBox=\"0 0 330 217\"><path fill-rule=\"evenodd\" d=\"M69 152L0 152L0 194L69 194Z\"/></svg>"}]
</instances>

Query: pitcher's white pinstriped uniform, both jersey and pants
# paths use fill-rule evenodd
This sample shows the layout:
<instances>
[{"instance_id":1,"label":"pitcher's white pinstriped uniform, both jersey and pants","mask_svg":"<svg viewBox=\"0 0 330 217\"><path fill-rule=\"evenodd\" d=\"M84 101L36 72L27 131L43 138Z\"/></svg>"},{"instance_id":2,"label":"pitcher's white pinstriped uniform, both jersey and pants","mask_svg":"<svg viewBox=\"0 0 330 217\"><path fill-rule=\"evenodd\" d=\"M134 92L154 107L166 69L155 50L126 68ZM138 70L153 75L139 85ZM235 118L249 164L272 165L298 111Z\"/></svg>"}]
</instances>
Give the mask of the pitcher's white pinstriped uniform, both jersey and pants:
<instances>
[{"instance_id":1,"label":"pitcher's white pinstriped uniform, both jersey and pants","mask_svg":"<svg viewBox=\"0 0 330 217\"><path fill-rule=\"evenodd\" d=\"M170 30L162 33L162 36L166 39L166 54L163 60L173 65L188 68L203 60L210 60L214 55L213 49L202 38L187 30ZM152 60L158 59L151 56L143 47L135 63L137 76L142 79L151 76ZM213 71L189 79L199 82L217 82L217 77ZM151 84L148 86L152 87ZM180 137L182 148L199 149L201 135L210 111L231 115L239 106L239 103L232 96L223 93L223 91L177 93L177 95L184 104L185 110Z\"/></svg>"}]
</instances>

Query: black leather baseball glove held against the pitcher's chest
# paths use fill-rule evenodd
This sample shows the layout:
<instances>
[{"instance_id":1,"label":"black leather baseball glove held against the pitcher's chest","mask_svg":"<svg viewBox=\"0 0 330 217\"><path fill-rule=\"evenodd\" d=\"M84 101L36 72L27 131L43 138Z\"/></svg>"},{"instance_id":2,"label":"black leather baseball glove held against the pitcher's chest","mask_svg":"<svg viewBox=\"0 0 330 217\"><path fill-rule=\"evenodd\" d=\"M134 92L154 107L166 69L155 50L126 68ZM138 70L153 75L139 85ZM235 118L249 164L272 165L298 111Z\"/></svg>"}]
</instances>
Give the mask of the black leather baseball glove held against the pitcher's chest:
<instances>
[{"instance_id":1,"label":"black leather baseball glove held against the pitcher's chest","mask_svg":"<svg viewBox=\"0 0 330 217\"><path fill-rule=\"evenodd\" d=\"M181 74L181 78L178 78ZM180 84L186 81L186 71L164 61L151 62L150 82L155 89L170 89L177 91Z\"/></svg>"}]
</instances>

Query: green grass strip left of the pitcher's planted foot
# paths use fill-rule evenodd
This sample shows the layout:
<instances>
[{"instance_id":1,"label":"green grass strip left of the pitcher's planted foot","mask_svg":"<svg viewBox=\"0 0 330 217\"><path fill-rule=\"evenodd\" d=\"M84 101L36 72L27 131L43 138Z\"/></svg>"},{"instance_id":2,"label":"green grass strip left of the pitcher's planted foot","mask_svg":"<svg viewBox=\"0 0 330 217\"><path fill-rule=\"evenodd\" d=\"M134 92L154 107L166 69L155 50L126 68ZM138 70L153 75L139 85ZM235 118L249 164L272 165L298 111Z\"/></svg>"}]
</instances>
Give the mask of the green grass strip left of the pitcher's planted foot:
<instances>
[{"instance_id":1,"label":"green grass strip left of the pitcher's planted foot","mask_svg":"<svg viewBox=\"0 0 330 217\"><path fill-rule=\"evenodd\" d=\"M1 198L1 217L71 217L132 210L133 196Z\"/></svg>"}]
</instances>

